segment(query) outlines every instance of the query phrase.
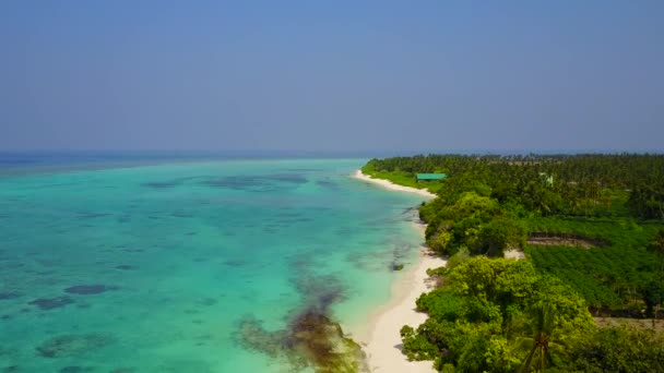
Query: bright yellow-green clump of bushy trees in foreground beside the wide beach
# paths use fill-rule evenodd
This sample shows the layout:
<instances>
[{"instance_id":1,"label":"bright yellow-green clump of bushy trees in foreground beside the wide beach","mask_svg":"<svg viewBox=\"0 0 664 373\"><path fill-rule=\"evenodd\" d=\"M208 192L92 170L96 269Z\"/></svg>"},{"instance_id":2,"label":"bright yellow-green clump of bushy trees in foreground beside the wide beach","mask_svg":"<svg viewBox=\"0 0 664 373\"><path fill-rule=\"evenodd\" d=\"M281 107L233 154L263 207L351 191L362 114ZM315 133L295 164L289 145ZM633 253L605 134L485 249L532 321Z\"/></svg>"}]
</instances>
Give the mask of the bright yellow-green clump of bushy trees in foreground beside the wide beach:
<instances>
[{"instance_id":1,"label":"bright yellow-green clump of bushy trees in foreground beside the wide beach","mask_svg":"<svg viewBox=\"0 0 664 373\"><path fill-rule=\"evenodd\" d=\"M462 371L565 366L566 346L594 329L581 297L526 261L462 260L417 300L429 318L401 330L413 360Z\"/></svg>"}]
</instances>

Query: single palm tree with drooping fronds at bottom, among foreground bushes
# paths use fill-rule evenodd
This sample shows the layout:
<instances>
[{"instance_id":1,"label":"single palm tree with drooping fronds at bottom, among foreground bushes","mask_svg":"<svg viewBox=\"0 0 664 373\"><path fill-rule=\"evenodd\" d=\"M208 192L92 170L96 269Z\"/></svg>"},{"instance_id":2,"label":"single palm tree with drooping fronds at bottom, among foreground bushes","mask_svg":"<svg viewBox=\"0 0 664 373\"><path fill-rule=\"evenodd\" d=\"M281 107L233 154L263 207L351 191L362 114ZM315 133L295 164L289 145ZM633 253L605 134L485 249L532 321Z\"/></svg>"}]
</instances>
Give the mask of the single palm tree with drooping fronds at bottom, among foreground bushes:
<instances>
[{"instance_id":1,"label":"single palm tree with drooping fronds at bottom, among foreground bushes","mask_svg":"<svg viewBox=\"0 0 664 373\"><path fill-rule=\"evenodd\" d=\"M555 315L556 309L548 304L537 303L531 310L532 318L526 321L525 336L515 339L517 348L527 351L519 372L542 372L552 363L552 350L564 351L564 346L557 340Z\"/></svg>"}]
</instances>

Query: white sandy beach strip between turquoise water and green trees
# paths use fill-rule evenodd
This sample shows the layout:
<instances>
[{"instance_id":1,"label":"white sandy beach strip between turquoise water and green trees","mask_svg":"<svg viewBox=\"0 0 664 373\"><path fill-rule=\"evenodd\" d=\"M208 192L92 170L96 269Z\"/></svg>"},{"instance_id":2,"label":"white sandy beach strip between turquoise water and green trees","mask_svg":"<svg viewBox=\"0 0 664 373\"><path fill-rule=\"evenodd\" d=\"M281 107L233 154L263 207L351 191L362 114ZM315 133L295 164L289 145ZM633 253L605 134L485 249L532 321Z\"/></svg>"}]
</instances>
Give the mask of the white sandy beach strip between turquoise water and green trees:
<instances>
[{"instance_id":1,"label":"white sandy beach strip between turquoise water and green trees","mask_svg":"<svg viewBox=\"0 0 664 373\"><path fill-rule=\"evenodd\" d=\"M429 198L436 196L427 190L372 179L361 173L360 170L357 170L353 177L394 191L417 193ZM414 222L414 228L419 230L424 239L426 225ZM367 365L370 372L435 372L432 361L408 361L402 352L403 344L400 330L403 325L417 327L427 320L426 313L415 310L415 300L423 292L430 291L435 287L427 275L427 269L438 268L446 264L444 258L431 255L430 250L423 245L417 261L392 284L390 301L369 316L367 327L363 330L365 333L358 333L355 336L356 341L363 346L363 350L367 354Z\"/></svg>"}]
</instances>

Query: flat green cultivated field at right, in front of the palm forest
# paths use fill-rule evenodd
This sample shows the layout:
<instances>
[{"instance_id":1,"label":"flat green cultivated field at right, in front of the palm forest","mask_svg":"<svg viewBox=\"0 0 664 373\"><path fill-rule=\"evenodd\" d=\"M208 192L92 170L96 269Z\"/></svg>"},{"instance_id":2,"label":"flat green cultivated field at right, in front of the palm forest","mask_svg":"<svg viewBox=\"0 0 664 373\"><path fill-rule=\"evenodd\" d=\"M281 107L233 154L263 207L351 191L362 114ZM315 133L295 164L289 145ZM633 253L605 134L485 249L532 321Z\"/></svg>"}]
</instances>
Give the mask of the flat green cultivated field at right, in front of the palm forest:
<instances>
[{"instance_id":1,"label":"flat green cultivated field at right, in front of the palm forest","mask_svg":"<svg viewBox=\"0 0 664 373\"><path fill-rule=\"evenodd\" d=\"M591 308L644 308L638 291L656 280L659 260L647 250L661 224L637 224L630 218L534 218L523 220L529 232L576 233L602 240L583 250L570 246L526 245L535 266L572 286Z\"/></svg>"}]
</instances>

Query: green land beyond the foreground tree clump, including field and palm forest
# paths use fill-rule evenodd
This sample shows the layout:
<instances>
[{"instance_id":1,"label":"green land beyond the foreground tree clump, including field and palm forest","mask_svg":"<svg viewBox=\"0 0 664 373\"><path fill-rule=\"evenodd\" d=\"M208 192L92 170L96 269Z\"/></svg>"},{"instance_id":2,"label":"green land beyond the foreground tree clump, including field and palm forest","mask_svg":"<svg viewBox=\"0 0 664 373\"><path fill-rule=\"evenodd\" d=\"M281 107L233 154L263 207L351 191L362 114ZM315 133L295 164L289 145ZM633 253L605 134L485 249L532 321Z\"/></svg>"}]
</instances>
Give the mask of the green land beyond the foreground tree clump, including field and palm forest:
<instances>
[{"instance_id":1,"label":"green land beyond the foreground tree clump, including field and palm forest","mask_svg":"<svg viewBox=\"0 0 664 373\"><path fill-rule=\"evenodd\" d=\"M662 306L664 265L651 243L664 228L662 155L430 155L372 159L365 169L411 185L417 172L449 176L419 210L427 244L440 254L523 249L593 314L652 317ZM591 248L530 242L536 234Z\"/></svg>"}]
</instances>

